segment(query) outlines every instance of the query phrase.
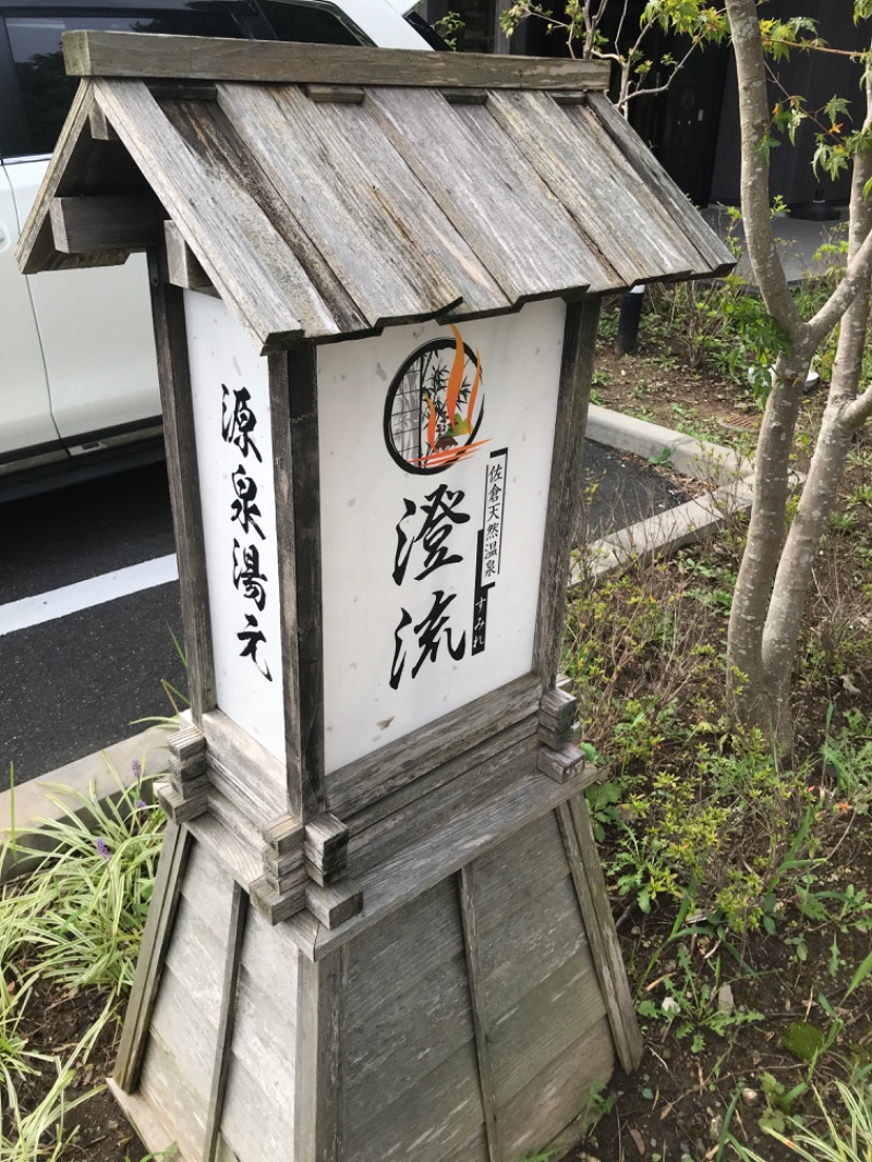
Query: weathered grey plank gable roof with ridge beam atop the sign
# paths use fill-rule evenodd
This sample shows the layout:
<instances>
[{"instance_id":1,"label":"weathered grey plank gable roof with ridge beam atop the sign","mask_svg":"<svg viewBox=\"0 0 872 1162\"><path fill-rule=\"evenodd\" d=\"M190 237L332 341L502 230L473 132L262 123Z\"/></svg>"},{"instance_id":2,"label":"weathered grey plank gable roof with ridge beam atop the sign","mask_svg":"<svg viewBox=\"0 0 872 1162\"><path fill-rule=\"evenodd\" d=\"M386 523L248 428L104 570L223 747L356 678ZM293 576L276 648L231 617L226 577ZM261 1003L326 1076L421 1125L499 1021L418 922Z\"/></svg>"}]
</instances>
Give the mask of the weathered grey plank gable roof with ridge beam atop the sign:
<instances>
[{"instance_id":1,"label":"weathered grey plank gable roof with ridge beam atop the sign","mask_svg":"<svg viewBox=\"0 0 872 1162\"><path fill-rule=\"evenodd\" d=\"M732 266L598 63L64 40L84 79L24 273L166 241L171 279L210 285L269 351Z\"/></svg>"}]
</instances>

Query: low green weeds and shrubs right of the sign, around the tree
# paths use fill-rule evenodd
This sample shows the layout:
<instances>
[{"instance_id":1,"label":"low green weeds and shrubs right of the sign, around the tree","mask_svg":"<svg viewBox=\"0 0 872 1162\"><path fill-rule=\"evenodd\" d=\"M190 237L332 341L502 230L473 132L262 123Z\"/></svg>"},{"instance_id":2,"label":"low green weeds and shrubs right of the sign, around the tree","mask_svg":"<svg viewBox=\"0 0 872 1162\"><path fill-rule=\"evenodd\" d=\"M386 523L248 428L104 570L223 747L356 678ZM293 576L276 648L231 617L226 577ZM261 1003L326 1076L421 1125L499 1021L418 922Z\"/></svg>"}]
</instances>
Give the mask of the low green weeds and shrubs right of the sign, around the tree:
<instances>
[{"instance_id":1,"label":"low green weeds and shrubs right of the sign, around the tree","mask_svg":"<svg viewBox=\"0 0 872 1162\"><path fill-rule=\"evenodd\" d=\"M757 1082L760 1126L793 1135L791 1118L807 1113L813 1083L822 1100L838 1100L835 1081L850 1086L856 1062L869 1060L864 1019L852 1028L844 1005L852 998L862 1014L869 998L872 901L834 858L852 827L867 827L872 808L872 720L867 708L851 709L843 681L852 674L865 688L872 640L850 630L863 614L853 590L841 600L844 546L834 539L803 631L795 752L772 753L732 729L722 710L724 641L743 535L734 519L716 541L669 561L631 560L599 583L582 579L563 666L580 745L601 770L588 810L656 1052L676 1042L699 1055L709 1062L700 1085L716 1086L734 1045L773 1035L756 999L763 944L777 941L796 968L810 948L828 949L815 999L824 1021L814 1026L806 1076L799 1086L773 1076L771 1093ZM859 1107L844 1104L855 1117ZM815 1162L855 1159L805 1148L812 1153L799 1156ZM730 1156L726 1132L717 1149Z\"/></svg>"}]
</instances>

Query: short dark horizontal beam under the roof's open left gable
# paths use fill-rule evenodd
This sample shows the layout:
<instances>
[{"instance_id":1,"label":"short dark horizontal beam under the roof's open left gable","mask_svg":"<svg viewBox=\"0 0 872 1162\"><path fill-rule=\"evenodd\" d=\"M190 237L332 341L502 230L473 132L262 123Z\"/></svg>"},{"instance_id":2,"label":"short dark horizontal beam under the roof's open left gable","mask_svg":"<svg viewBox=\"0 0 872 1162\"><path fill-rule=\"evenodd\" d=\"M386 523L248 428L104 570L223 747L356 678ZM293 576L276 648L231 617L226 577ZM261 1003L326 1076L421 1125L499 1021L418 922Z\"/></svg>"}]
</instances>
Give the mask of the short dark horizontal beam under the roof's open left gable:
<instances>
[{"instance_id":1,"label":"short dark horizontal beam under the roof's open left gable","mask_svg":"<svg viewBox=\"0 0 872 1162\"><path fill-rule=\"evenodd\" d=\"M49 203L51 235L65 254L159 246L165 217L153 194L52 198Z\"/></svg>"}]
</instances>

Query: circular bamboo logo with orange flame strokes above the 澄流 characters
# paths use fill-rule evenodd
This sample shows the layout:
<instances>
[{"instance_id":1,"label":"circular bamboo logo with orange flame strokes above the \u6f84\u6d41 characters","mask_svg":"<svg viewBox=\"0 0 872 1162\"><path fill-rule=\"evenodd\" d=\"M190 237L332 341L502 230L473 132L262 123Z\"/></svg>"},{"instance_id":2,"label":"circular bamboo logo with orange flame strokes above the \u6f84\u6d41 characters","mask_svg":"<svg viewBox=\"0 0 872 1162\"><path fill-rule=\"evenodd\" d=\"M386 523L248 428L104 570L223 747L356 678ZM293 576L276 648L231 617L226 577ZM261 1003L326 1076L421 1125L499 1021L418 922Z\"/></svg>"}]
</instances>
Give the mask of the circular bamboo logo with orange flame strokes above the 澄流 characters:
<instances>
[{"instance_id":1,"label":"circular bamboo logo with orange flame strokes above the \u6f84\u6d41 characters","mask_svg":"<svg viewBox=\"0 0 872 1162\"><path fill-rule=\"evenodd\" d=\"M394 375L385 400L385 444L406 472L444 472L471 456L484 416L481 359L463 342L433 339Z\"/></svg>"}]
</instances>

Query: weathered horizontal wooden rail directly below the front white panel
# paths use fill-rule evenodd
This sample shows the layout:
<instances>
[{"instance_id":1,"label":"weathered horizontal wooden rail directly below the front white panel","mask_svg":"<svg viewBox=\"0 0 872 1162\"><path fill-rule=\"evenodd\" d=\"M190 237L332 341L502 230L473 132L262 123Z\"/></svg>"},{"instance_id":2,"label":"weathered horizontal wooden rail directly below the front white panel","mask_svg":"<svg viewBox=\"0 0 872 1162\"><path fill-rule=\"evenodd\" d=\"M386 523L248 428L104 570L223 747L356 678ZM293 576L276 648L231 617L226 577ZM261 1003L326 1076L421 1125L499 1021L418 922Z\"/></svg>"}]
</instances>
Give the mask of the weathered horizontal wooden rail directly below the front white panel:
<instances>
[{"instance_id":1,"label":"weathered horizontal wooden rail directly below the front white panel","mask_svg":"<svg viewBox=\"0 0 872 1162\"><path fill-rule=\"evenodd\" d=\"M493 736L494 723L513 726L535 713L542 684L535 675L519 677L415 732L414 741L388 746L326 775L327 804L346 819L427 772L450 762Z\"/></svg>"}]
</instances>

